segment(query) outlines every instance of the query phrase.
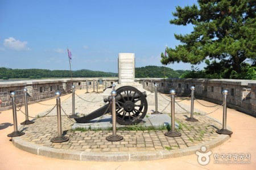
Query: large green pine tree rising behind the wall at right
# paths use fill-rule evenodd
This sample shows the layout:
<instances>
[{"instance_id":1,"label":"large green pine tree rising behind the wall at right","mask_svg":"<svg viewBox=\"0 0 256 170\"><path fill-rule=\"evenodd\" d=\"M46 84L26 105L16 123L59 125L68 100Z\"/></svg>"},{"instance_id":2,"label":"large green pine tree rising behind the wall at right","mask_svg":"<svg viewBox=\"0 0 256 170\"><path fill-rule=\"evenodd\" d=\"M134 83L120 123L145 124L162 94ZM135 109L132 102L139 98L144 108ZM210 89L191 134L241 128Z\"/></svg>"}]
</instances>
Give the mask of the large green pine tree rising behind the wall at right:
<instances>
[{"instance_id":1,"label":"large green pine tree rising behind the wall at right","mask_svg":"<svg viewBox=\"0 0 256 170\"><path fill-rule=\"evenodd\" d=\"M241 74L245 62L256 66L255 6L255 0L199 0L198 6L177 6L170 23L192 24L194 30L175 34L181 45L167 48L170 57L162 53L161 62L196 65L206 61L206 73L223 73L223 78L229 78L232 71Z\"/></svg>"}]
</instances>

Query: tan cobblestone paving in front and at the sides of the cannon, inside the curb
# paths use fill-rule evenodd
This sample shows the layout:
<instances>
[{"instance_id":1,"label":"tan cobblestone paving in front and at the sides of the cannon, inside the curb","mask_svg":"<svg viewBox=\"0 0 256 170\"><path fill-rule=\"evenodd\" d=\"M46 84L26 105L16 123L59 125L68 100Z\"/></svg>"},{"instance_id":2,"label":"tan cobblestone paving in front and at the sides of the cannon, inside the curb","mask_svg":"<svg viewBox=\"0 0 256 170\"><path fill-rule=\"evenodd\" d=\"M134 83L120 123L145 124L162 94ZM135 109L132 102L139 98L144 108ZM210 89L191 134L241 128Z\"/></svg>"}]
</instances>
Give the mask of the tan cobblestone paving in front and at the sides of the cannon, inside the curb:
<instances>
[{"instance_id":1,"label":"tan cobblestone paving in front and at the sides of the cannon, inside the curb","mask_svg":"<svg viewBox=\"0 0 256 170\"><path fill-rule=\"evenodd\" d=\"M208 142L218 136L215 132L222 126L207 116L195 116L198 122L188 122L185 118L188 114L176 114L175 121L180 124L177 129L181 137L166 137L164 130L118 130L117 134L123 136L119 142L106 141L106 137L112 134L110 130L97 131L72 131L73 122L66 116L62 117L62 130L69 141L52 143L51 138L57 135L56 116L42 117L35 120L35 124L26 125L23 128L25 135L21 136L24 141L38 145L64 148L85 152L117 152L117 151L162 151L186 148L199 143ZM66 134L67 133L67 134Z\"/></svg>"}]
</instances>

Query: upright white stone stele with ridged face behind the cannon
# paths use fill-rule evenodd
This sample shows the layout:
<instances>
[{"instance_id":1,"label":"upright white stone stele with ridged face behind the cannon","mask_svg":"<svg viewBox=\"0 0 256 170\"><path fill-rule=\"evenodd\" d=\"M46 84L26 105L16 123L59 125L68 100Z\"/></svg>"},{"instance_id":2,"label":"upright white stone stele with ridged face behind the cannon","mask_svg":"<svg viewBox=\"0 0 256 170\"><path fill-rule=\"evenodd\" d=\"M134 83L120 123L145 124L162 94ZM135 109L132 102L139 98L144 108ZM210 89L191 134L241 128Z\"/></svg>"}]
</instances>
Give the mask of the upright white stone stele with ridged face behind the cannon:
<instances>
[{"instance_id":1,"label":"upright white stone stele with ridged face behind the cannon","mask_svg":"<svg viewBox=\"0 0 256 170\"><path fill-rule=\"evenodd\" d=\"M118 54L118 83L131 85L135 82L134 53Z\"/></svg>"}]
</instances>

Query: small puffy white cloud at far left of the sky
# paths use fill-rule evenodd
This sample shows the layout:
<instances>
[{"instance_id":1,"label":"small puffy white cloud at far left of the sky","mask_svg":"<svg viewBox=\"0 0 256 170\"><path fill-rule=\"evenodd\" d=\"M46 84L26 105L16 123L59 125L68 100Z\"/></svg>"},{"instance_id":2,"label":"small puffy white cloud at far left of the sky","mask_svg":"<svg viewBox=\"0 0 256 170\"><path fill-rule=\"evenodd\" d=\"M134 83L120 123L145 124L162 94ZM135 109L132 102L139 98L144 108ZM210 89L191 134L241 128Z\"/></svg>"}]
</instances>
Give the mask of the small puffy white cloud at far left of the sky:
<instances>
[{"instance_id":1,"label":"small puffy white cloud at far left of the sky","mask_svg":"<svg viewBox=\"0 0 256 170\"><path fill-rule=\"evenodd\" d=\"M9 37L8 39L5 39L3 45L6 48L16 51L31 50L27 47L27 41L21 42L19 40L14 39L14 37Z\"/></svg>"}]
</instances>

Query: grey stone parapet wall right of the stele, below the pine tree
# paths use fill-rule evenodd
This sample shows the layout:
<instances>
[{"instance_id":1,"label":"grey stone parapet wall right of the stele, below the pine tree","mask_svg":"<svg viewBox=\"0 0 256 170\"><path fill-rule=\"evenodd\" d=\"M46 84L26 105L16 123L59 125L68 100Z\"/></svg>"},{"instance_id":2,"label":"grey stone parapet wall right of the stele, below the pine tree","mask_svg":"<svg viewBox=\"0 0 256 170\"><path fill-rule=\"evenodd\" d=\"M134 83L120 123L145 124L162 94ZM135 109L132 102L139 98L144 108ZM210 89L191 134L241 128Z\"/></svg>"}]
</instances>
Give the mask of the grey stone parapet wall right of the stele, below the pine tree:
<instances>
[{"instance_id":1,"label":"grey stone parapet wall right of the stele, below the pine tree","mask_svg":"<svg viewBox=\"0 0 256 170\"><path fill-rule=\"evenodd\" d=\"M227 106L256 116L256 80L233 80L233 79L157 79L143 78L136 79L143 84L144 89L154 92L154 84L158 84L159 92L168 93L170 89L175 89L177 95L191 94L191 86L195 86L195 97L222 103L222 91L229 91L227 96Z\"/></svg>"}]
</instances>

